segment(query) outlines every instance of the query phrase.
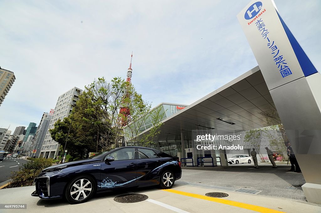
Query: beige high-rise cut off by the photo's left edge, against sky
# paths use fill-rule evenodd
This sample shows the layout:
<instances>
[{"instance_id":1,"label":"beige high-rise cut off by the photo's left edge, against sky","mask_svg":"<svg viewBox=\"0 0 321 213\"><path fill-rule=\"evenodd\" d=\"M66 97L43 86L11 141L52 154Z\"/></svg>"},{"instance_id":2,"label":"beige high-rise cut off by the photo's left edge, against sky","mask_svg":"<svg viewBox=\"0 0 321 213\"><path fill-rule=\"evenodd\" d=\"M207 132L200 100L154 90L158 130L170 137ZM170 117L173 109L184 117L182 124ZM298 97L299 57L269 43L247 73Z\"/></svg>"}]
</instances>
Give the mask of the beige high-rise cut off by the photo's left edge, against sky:
<instances>
[{"instance_id":1,"label":"beige high-rise cut off by the photo's left edge, against sky","mask_svg":"<svg viewBox=\"0 0 321 213\"><path fill-rule=\"evenodd\" d=\"M16 77L12 71L5 70L0 67L0 106L15 80Z\"/></svg>"}]
</instances>

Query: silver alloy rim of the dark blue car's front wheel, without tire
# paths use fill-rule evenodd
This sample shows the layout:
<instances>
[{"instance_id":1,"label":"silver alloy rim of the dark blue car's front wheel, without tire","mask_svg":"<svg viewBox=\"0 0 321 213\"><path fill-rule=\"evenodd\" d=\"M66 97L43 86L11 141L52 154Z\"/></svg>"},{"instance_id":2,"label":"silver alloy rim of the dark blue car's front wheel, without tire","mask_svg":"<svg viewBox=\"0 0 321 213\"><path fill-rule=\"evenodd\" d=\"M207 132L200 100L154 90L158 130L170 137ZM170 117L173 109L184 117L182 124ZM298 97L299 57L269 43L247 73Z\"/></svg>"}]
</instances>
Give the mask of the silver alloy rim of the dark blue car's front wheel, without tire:
<instances>
[{"instance_id":1,"label":"silver alloy rim of the dark blue car's front wheel, without tire","mask_svg":"<svg viewBox=\"0 0 321 213\"><path fill-rule=\"evenodd\" d=\"M76 200L81 201L85 199L92 190L92 184L87 179L79 179L74 182L70 189L70 196Z\"/></svg>"}]
</instances>

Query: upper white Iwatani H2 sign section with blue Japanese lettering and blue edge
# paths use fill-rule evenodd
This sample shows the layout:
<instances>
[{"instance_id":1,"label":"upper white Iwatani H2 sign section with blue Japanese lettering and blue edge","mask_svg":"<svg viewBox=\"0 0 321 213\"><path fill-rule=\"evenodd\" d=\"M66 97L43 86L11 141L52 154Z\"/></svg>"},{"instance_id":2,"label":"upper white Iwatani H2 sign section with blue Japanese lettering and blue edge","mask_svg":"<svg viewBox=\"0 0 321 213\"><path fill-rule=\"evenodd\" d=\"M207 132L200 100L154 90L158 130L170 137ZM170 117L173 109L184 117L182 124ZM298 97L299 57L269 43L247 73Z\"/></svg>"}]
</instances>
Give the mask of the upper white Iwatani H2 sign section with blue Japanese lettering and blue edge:
<instances>
[{"instance_id":1,"label":"upper white Iwatani H2 sign section with blue Japanese lettering and blue edge","mask_svg":"<svg viewBox=\"0 0 321 213\"><path fill-rule=\"evenodd\" d=\"M317 72L272 0L251 1L237 18L269 90Z\"/></svg>"}]
</instances>

